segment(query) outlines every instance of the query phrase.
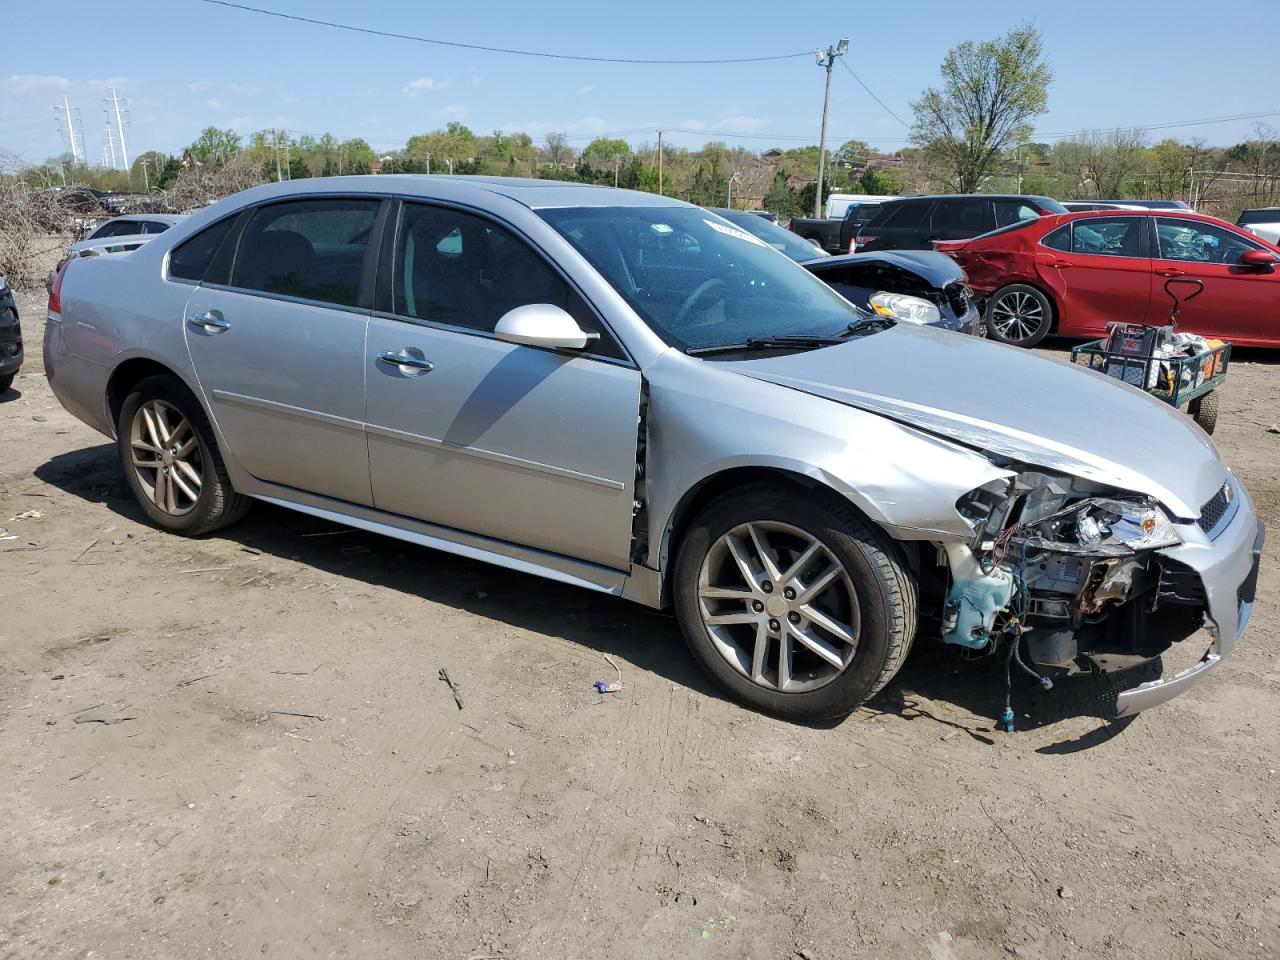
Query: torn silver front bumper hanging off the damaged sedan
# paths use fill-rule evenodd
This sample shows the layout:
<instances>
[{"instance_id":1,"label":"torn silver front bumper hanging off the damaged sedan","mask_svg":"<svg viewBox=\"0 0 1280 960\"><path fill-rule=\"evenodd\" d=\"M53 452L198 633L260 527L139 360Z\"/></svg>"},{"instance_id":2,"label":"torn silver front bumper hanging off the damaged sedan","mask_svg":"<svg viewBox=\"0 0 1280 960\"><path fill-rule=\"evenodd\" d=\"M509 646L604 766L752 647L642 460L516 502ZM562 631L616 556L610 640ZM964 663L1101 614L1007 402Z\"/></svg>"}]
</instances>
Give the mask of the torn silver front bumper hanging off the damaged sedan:
<instances>
[{"instance_id":1,"label":"torn silver front bumper hanging off the damaged sedan","mask_svg":"<svg viewBox=\"0 0 1280 960\"><path fill-rule=\"evenodd\" d=\"M1188 669L1125 690L1116 699L1116 717L1130 717L1171 700L1207 677L1235 648L1253 612L1258 564L1266 530L1244 486L1236 481L1235 515L1212 540L1199 527L1187 543L1165 556L1199 573L1208 608L1204 626L1213 637L1204 657Z\"/></svg>"}]
</instances>

